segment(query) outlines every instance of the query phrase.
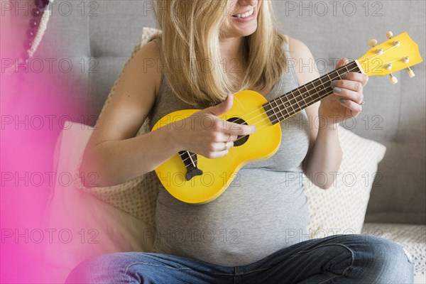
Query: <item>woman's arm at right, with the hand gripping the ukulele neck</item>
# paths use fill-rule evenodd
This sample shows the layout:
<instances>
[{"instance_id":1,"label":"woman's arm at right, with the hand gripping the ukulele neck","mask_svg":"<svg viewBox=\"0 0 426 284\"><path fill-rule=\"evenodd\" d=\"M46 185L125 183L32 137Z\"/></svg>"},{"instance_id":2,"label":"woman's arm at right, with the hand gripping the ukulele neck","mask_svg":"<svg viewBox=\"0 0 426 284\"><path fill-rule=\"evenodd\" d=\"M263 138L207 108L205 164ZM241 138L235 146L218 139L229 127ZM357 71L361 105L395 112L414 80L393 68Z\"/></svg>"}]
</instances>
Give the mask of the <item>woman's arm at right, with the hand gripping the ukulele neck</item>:
<instances>
[{"instance_id":1,"label":"woman's arm at right, with the hand gripping the ukulele neck","mask_svg":"<svg viewBox=\"0 0 426 284\"><path fill-rule=\"evenodd\" d=\"M309 48L299 40L290 38L289 41L290 55L297 62L295 71L299 83L306 84L320 77ZM299 67L303 64L304 67ZM306 64L310 67L306 67ZM340 60L337 67L344 64L346 59ZM339 93L334 92L306 109L310 121L310 146L302 163L303 171L315 185L323 189L333 184L342 162L337 126L344 119L355 117L361 112L359 103L364 100L362 90L367 81L368 76L351 72L346 80L336 81ZM319 121L319 124L315 124L315 121ZM324 177L327 177L326 180Z\"/></svg>"}]
</instances>

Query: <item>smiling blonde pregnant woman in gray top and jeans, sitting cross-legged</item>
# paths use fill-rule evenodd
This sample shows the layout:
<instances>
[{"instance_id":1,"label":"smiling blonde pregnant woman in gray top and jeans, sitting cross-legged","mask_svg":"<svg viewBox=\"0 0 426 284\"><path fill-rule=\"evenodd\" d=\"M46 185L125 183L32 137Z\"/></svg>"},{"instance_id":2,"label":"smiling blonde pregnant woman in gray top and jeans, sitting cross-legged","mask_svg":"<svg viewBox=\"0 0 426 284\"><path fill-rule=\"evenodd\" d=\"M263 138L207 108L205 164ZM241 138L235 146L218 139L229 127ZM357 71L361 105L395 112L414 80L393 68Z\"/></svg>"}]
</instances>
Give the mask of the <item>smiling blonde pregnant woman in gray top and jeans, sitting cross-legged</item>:
<instances>
[{"instance_id":1,"label":"smiling blonde pregnant woman in gray top and jeans, sitting cross-legged","mask_svg":"<svg viewBox=\"0 0 426 284\"><path fill-rule=\"evenodd\" d=\"M162 33L129 62L84 153L82 171L96 171L100 186L152 171L179 151L229 155L237 136L256 131L219 119L244 103L233 94L251 89L271 100L319 77L315 68L289 64L315 60L305 44L278 32L271 1L158 0L155 13ZM393 241L364 234L304 239L302 173L325 173L326 182L312 182L332 185L327 173L342 160L337 125L361 112L367 81L346 72L332 82L332 95L280 122L275 155L245 165L212 202L181 202L158 182L154 251L87 259L67 283L413 283L413 265ZM195 108L179 128L136 136L147 117L152 128L170 112ZM184 237L170 238L173 231ZM213 237L193 237L202 231Z\"/></svg>"}]
</instances>

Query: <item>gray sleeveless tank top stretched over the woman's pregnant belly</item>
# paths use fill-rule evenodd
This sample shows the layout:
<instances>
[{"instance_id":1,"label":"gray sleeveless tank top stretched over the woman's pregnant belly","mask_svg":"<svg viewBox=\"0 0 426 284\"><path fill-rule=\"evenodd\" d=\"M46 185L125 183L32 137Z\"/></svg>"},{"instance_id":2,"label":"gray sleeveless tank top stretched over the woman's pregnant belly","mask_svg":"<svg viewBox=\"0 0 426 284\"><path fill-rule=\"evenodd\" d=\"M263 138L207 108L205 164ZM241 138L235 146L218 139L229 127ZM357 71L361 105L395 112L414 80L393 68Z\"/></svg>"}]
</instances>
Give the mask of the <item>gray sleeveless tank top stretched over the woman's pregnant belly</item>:
<instances>
[{"instance_id":1,"label":"gray sleeveless tank top stretched over the woman's pregnant belly","mask_svg":"<svg viewBox=\"0 0 426 284\"><path fill-rule=\"evenodd\" d=\"M288 46L284 46L288 58ZM290 66L266 99L298 87ZM163 80L148 119L151 129L161 117L193 109L173 95ZM221 266L244 266L307 239L307 197L301 162L309 146L305 111L282 121L282 141L268 160L245 165L216 200L187 204L157 182L157 234L154 252L195 258Z\"/></svg>"}]
</instances>

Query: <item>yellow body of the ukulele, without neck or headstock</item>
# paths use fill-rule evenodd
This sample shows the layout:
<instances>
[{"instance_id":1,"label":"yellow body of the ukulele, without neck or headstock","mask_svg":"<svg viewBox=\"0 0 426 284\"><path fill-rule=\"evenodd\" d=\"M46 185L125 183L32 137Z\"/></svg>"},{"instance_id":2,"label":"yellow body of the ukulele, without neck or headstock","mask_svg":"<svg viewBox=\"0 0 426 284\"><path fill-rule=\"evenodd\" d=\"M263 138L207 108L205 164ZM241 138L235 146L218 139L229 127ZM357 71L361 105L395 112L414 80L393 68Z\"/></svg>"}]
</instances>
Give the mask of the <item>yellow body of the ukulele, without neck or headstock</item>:
<instances>
[{"instance_id":1,"label":"yellow body of the ukulele, without neck or headstock","mask_svg":"<svg viewBox=\"0 0 426 284\"><path fill-rule=\"evenodd\" d=\"M220 119L237 121L243 119L246 124L255 125L256 131L250 136L240 138L229 149L229 154L222 158L209 159L197 155L197 168L202 175L195 175L190 180L185 178L187 168L183 158L176 153L172 158L155 169L158 179L166 190L176 199L203 204L219 197L238 175L239 169L247 163L270 158L280 146L280 124L271 124L262 105L267 101L258 92L245 90L234 94L234 104ZM160 127L183 127L182 119L191 116L199 109L174 111L158 120L153 131ZM209 126L209 121L205 121ZM189 155L187 156L189 158Z\"/></svg>"}]
</instances>

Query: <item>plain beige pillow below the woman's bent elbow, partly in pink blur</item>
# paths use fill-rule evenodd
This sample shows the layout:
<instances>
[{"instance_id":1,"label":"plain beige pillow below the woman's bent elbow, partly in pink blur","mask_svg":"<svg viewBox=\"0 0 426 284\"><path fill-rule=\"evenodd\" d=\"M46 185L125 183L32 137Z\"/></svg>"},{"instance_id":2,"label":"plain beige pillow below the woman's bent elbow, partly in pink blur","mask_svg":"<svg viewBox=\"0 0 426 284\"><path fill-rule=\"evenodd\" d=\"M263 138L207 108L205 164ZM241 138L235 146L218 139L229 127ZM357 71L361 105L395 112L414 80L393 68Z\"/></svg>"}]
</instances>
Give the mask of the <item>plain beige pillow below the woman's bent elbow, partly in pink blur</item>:
<instances>
[{"instance_id":1,"label":"plain beige pillow below the woman's bent elbow, partly in pink blur","mask_svg":"<svg viewBox=\"0 0 426 284\"><path fill-rule=\"evenodd\" d=\"M58 236L45 246L50 280L63 283L72 268L86 258L119 251L152 251L155 228L123 210L72 186L67 178L77 167L92 130L67 121L55 146L56 173L44 217L46 229Z\"/></svg>"}]
</instances>

